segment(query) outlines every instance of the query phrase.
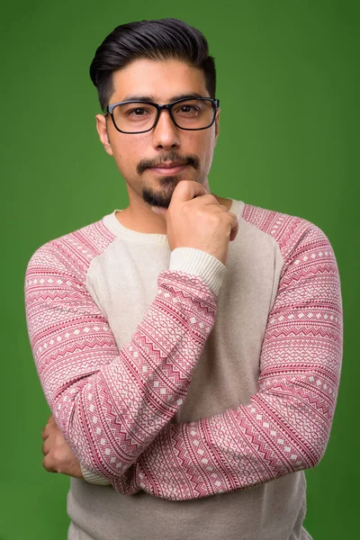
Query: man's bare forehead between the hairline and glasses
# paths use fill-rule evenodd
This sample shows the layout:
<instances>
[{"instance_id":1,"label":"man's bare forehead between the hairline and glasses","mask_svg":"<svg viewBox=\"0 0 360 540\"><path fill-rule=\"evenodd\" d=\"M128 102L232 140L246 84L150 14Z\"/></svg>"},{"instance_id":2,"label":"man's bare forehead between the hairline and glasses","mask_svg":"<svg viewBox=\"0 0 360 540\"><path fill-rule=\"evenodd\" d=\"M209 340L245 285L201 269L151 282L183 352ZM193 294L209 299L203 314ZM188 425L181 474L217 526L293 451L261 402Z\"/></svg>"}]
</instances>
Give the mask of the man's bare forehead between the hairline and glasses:
<instances>
[{"instance_id":1,"label":"man's bare forehead between the hairline and glasses","mask_svg":"<svg viewBox=\"0 0 360 540\"><path fill-rule=\"evenodd\" d=\"M169 103L183 94L209 96L202 69L181 60L140 58L112 74L113 93L110 103L132 96L153 96L157 103Z\"/></svg>"}]
</instances>

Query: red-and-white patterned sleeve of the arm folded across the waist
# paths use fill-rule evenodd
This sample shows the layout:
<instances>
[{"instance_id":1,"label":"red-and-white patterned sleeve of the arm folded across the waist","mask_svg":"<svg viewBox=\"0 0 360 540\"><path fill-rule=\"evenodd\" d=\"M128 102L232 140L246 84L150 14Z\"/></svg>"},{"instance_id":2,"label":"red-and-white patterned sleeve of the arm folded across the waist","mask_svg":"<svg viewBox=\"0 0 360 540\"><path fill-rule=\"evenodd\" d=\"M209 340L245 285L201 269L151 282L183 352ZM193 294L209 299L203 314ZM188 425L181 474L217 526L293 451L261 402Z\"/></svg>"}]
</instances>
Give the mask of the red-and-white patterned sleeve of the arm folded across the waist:
<instances>
[{"instance_id":1,"label":"red-and-white patterned sleeve of the arm folded across the waist","mask_svg":"<svg viewBox=\"0 0 360 540\"><path fill-rule=\"evenodd\" d=\"M267 321L258 392L235 410L168 423L128 470L129 485L160 498L189 500L255 487L319 464L341 356L338 266L328 238L311 224L284 262Z\"/></svg>"}]
</instances>

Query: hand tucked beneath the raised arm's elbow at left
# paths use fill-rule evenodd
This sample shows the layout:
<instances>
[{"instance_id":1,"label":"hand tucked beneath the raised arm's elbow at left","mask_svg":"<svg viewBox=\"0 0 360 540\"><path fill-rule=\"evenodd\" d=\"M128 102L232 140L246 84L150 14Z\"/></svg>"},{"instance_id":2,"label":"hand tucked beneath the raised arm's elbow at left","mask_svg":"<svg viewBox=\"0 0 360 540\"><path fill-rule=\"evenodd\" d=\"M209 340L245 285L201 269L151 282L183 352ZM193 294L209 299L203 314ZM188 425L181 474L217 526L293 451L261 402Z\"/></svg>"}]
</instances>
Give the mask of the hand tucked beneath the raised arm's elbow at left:
<instances>
[{"instance_id":1,"label":"hand tucked beneath the raised arm's elbow at left","mask_svg":"<svg viewBox=\"0 0 360 540\"><path fill-rule=\"evenodd\" d=\"M42 465L49 473L61 473L83 479L80 463L67 441L58 429L54 417L49 417L48 423L43 428L41 437L45 441L42 445L42 454L45 455Z\"/></svg>"}]
</instances>

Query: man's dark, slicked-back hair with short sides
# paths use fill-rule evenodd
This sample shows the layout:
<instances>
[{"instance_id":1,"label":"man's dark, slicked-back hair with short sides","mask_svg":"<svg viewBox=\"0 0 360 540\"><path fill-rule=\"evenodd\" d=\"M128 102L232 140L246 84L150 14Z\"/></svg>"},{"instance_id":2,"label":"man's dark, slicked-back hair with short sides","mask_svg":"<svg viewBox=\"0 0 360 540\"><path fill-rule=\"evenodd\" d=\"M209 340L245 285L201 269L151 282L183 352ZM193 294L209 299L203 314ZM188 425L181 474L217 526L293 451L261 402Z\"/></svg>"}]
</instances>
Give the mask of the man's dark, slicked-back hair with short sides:
<instances>
[{"instance_id":1,"label":"man's dark, slicked-back hair with short sides","mask_svg":"<svg viewBox=\"0 0 360 540\"><path fill-rule=\"evenodd\" d=\"M90 76L102 110L113 92L112 72L139 58L175 58L202 69L206 89L215 97L215 62L202 32L178 19L139 21L117 26L96 49Z\"/></svg>"}]
</instances>

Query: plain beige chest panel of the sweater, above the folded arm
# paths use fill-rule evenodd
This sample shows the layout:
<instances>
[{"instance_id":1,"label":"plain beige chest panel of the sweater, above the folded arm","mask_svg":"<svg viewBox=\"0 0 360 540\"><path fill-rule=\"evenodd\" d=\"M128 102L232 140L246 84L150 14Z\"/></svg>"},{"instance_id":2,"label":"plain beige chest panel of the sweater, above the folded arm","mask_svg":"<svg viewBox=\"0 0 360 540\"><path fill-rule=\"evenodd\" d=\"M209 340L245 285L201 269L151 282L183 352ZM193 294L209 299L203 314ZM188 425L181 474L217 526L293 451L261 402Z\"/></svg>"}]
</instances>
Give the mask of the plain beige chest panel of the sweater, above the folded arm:
<instances>
[{"instance_id":1,"label":"plain beige chest panel of the sweater, above the folded arm","mask_svg":"<svg viewBox=\"0 0 360 540\"><path fill-rule=\"evenodd\" d=\"M112 264L103 264L94 275L94 292L119 349L130 342L155 299L157 275L168 268L169 258L166 246L139 249L119 243ZM215 324L175 422L213 416L246 403L257 392L261 346L280 267L269 242L229 245Z\"/></svg>"}]
</instances>

